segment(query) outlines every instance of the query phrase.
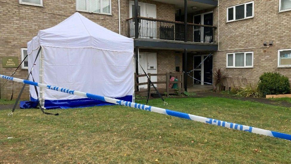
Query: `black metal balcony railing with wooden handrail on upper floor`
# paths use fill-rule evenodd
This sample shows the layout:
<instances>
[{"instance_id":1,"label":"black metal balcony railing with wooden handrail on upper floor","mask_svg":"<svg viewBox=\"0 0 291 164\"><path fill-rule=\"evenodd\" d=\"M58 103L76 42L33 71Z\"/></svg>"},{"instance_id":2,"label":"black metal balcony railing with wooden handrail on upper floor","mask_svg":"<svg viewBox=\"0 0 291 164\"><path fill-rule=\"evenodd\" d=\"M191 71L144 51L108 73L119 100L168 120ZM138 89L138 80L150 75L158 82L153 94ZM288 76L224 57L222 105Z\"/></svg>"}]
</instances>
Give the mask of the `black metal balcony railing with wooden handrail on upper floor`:
<instances>
[{"instance_id":1,"label":"black metal balcony railing with wooden handrail on upper floor","mask_svg":"<svg viewBox=\"0 0 291 164\"><path fill-rule=\"evenodd\" d=\"M135 37L134 18L127 19L128 37ZM216 27L187 23L188 42L213 43ZM160 19L138 17L138 38L165 40L185 40L184 22L171 22Z\"/></svg>"}]
</instances>

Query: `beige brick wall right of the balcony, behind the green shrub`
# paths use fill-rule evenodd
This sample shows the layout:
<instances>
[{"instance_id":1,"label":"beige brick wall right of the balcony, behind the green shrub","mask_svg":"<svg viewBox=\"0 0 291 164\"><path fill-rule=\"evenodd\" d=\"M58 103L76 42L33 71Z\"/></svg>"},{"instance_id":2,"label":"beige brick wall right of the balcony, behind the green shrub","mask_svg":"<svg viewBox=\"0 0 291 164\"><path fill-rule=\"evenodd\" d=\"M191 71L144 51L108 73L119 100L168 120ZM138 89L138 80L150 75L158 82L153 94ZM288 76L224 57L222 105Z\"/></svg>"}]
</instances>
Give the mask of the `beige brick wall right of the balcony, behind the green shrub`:
<instances>
[{"instance_id":1,"label":"beige brick wall right of the balcony, behind the green shrub","mask_svg":"<svg viewBox=\"0 0 291 164\"><path fill-rule=\"evenodd\" d=\"M226 8L249 0L219 1L219 50L214 53L213 67L222 68L230 77L247 78L257 83L264 72L279 72L291 78L291 68L277 68L278 49L291 48L291 11L278 13L278 0L255 0L254 18L226 23ZM214 10L214 22L217 26L218 10ZM216 41L218 38L216 30ZM269 48L264 41L274 41ZM252 48L243 50L243 48ZM241 49L241 50L229 50ZM222 51L227 50L227 51ZM267 50L267 53L263 53ZM254 51L253 68L225 68L226 53Z\"/></svg>"}]
</instances>

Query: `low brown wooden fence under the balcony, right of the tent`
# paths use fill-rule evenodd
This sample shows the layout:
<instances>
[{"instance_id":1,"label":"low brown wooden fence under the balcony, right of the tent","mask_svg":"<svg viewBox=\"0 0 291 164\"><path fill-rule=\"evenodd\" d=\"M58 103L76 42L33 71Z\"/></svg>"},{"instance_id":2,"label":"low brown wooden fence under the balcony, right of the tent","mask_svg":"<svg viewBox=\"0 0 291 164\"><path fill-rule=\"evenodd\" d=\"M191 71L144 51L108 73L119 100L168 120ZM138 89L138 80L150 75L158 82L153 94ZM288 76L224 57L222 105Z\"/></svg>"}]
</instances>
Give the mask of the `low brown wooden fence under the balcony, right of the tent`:
<instances>
[{"instance_id":1,"label":"low brown wooden fence under the balcony, right of the tent","mask_svg":"<svg viewBox=\"0 0 291 164\"><path fill-rule=\"evenodd\" d=\"M165 76L165 81L159 81L160 78L157 77L157 82L152 82L153 84L157 84L157 90L160 92L160 94L164 94L167 92L167 96L169 94L181 94L184 92L184 74L183 73L148 73L149 79L151 79L151 76ZM170 76L175 77L178 81L170 82ZM135 95L140 95L140 96L146 96L148 93L148 87L150 87L150 82L148 79L148 82L142 82L142 83L137 83L136 78L137 77L146 77L146 74L142 75L137 75L134 73L134 88L135 88ZM159 87L160 84L165 84L165 88ZM178 88L169 88L169 84L177 84ZM139 91L137 91L137 86L140 85L147 85L147 88L141 88ZM152 87L152 86L151 86ZM151 93L155 92L154 88L151 88Z\"/></svg>"}]
</instances>

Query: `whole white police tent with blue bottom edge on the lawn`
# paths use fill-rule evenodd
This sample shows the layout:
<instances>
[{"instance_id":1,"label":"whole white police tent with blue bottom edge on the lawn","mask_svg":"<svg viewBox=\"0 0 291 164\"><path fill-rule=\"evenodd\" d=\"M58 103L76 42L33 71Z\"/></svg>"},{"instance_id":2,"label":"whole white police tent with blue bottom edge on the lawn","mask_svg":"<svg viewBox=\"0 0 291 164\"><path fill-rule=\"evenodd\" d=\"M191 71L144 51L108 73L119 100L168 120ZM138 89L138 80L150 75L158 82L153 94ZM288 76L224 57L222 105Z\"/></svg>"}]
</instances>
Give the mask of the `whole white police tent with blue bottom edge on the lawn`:
<instances>
[{"instance_id":1,"label":"whole white police tent with blue bottom edge on the lawn","mask_svg":"<svg viewBox=\"0 0 291 164\"><path fill-rule=\"evenodd\" d=\"M114 33L75 13L27 43L28 70L35 82L132 101L134 94L133 39ZM30 76L32 80L32 76ZM30 86L31 101L44 108L104 105L80 96Z\"/></svg>"}]
</instances>

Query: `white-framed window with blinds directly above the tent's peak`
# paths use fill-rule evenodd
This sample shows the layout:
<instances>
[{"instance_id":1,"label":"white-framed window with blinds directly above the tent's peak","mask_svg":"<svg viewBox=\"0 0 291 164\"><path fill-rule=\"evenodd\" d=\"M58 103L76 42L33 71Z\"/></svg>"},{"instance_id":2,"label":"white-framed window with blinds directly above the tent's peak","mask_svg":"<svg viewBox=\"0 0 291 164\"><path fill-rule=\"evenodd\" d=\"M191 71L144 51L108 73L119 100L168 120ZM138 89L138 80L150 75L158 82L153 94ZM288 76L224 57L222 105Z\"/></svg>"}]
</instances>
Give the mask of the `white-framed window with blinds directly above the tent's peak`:
<instances>
[{"instance_id":1,"label":"white-framed window with blinds directly above the tent's peak","mask_svg":"<svg viewBox=\"0 0 291 164\"><path fill-rule=\"evenodd\" d=\"M111 15L111 0L76 0L77 11Z\"/></svg>"}]
</instances>

